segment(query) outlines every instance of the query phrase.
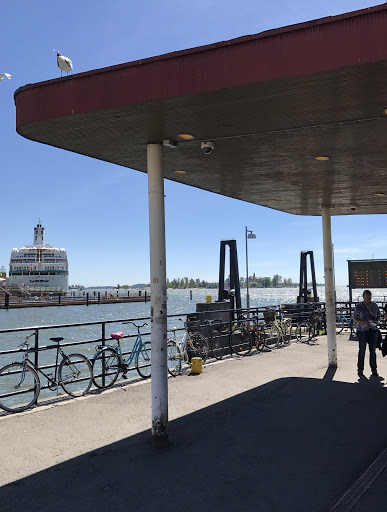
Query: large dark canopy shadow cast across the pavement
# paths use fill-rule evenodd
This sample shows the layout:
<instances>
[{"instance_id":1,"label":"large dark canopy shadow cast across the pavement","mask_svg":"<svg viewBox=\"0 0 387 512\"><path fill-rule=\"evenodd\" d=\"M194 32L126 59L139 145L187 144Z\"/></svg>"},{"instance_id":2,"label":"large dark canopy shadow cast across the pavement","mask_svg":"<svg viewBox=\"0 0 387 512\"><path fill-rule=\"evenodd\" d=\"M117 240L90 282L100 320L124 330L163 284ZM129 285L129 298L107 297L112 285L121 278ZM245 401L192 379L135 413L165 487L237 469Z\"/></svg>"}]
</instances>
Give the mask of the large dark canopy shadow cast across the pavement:
<instances>
[{"instance_id":1,"label":"large dark canopy shadow cast across the pavement","mask_svg":"<svg viewBox=\"0 0 387 512\"><path fill-rule=\"evenodd\" d=\"M1 510L327 512L385 448L386 399L278 379L170 422L169 448L142 432L4 486Z\"/></svg>"}]
</instances>

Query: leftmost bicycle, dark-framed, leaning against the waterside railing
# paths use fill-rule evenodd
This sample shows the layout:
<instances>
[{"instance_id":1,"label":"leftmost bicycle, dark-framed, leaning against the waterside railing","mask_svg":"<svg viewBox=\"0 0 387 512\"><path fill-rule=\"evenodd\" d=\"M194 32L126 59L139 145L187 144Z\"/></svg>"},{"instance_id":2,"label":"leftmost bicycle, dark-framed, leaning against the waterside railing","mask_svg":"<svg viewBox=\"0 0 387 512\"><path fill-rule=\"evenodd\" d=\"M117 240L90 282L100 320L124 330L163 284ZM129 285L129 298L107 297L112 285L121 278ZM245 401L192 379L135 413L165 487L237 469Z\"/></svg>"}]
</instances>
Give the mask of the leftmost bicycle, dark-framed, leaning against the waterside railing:
<instances>
[{"instance_id":1,"label":"leftmost bicycle, dark-framed, leaning against the waterside railing","mask_svg":"<svg viewBox=\"0 0 387 512\"><path fill-rule=\"evenodd\" d=\"M50 338L57 343L54 373L45 373L28 357L30 353L28 340L35 332L26 336L19 347L24 348L21 362L7 364L0 370L0 407L7 412L22 412L32 407L38 400L41 390L39 373L47 379L48 388L57 391L62 387L68 395L79 397L86 394L92 384L90 361L83 354L66 354L60 347L62 337ZM59 354L62 360L58 366ZM17 397L23 395L24 402L17 403Z\"/></svg>"}]
</instances>

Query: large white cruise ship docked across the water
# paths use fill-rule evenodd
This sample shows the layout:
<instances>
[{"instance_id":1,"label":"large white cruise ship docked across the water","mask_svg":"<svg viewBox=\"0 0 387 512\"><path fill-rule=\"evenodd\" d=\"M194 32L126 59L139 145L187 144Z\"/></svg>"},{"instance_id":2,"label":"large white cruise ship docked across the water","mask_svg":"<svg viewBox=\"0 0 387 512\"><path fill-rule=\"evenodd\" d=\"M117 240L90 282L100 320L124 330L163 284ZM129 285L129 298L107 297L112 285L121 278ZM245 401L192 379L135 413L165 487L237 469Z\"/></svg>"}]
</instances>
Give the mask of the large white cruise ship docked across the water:
<instances>
[{"instance_id":1,"label":"large white cruise ship docked across the water","mask_svg":"<svg viewBox=\"0 0 387 512\"><path fill-rule=\"evenodd\" d=\"M66 293L68 281L66 250L45 243L44 227L39 220L34 228L34 243L12 250L7 286Z\"/></svg>"}]
</instances>

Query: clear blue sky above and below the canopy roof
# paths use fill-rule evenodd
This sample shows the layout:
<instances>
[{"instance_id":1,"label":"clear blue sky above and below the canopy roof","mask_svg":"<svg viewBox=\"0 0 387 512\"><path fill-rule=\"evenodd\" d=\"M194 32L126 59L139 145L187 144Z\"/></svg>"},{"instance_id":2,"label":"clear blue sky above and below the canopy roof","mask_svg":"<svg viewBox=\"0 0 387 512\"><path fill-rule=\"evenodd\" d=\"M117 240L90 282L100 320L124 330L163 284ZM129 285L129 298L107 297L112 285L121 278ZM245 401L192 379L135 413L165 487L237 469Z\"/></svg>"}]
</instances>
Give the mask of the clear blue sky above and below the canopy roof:
<instances>
[{"instance_id":1,"label":"clear blue sky above and below the canopy roof","mask_svg":"<svg viewBox=\"0 0 387 512\"><path fill-rule=\"evenodd\" d=\"M0 266L13 247L32 243L40 218L46 241L65 247L70 283L149 282L147 176L28 141L15 131L14 91L56 78L53 48L70 57L74 72L102 68L263 30L340 14L380 2L47 0L2 6L0 155L2 237ZM245 275L279 273L298 281L301 250L313 250L323 280L319 217L298 217L165 182L167 273L217 280L219 242L235 238ZM219 215L219 212L222 212ZM347 284L347 259L386 258L383 216L332 218L336 283ZM365 233L359 238L356 232Z\"/></svg>"}]
</instances>

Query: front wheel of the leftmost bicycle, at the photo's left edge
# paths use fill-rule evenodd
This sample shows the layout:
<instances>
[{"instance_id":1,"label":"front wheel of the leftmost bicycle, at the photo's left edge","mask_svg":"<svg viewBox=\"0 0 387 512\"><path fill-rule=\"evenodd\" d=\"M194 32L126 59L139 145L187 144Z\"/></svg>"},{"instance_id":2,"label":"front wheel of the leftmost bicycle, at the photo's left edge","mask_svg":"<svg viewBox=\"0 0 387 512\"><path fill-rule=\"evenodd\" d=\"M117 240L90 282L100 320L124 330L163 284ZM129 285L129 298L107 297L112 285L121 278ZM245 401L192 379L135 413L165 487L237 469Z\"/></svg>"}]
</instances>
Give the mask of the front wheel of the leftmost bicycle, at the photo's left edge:
<instances>
[{"instance_id":1,"label":"front wheel of the leftmost bicycle, at the photo's left edge","mask_svg":"<svg viewBox=\"0 0 387 512\"><path fill-rule=\"evenodd\" d=\"M37 372L23 363L12 363L0 370L0 407L8 412L22 412L38 399L40 380Z\"/></svg>"}]
</instances>

